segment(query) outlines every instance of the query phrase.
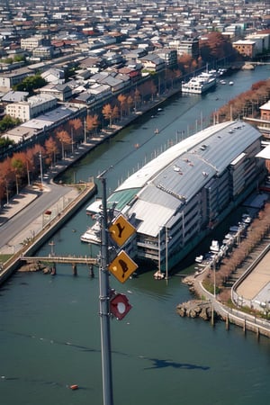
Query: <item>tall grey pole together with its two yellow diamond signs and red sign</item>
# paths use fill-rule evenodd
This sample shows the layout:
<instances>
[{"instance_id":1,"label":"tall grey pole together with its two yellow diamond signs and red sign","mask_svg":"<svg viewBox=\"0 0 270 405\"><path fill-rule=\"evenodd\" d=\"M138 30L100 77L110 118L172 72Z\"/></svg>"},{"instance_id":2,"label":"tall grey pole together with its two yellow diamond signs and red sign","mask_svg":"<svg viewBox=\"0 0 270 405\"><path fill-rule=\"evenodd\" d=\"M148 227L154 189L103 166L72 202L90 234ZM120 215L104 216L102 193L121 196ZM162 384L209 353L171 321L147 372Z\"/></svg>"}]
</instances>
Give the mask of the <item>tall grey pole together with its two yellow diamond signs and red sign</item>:
<instances>
[{"instance_id":1,"label":"tall grey pole together with its two yellow diamond signs and red sign","mask_svg":"<svg viewBox=\"0 0 270 405\"><path fill-rule=\"evenodd\" d=\"M115 293L115 290L111 290L109 284L109 272L111 272L119 282L125 283L138 267L123 250L118 252L116 257L114 257L109 263L109 232L110 238L112 238L118 247L124 246L125 242L136 232L136 229L121 214L112 220L110 227L108 227L105 174L109 169L104 170L101 175L97 176L102 182L103 193L102 211L100 216L101 258L99 268L99 315L101 327L103 405L113 405L110 331L111 316L121 320L131 309L129 300L124 294Z\"/></svg>"}]
</instances>

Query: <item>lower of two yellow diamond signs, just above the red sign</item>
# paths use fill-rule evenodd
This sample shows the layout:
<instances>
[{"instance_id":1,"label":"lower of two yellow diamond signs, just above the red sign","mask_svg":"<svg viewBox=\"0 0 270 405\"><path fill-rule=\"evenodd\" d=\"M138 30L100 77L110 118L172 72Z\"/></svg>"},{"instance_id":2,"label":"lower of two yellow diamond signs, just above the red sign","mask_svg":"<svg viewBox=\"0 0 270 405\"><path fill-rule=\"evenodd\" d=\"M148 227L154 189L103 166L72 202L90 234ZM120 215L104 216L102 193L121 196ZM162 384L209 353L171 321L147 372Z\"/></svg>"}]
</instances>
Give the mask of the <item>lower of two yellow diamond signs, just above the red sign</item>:
<instances>
[{"instance_id":1,"label":"lower of two yellow diamond signs, just above the red sign","mask_svg":"<svg viewBox=\"0 0 270 405\"><path fill-rule=\"evenodd\" d=\"M114 275L120 283L124 283L138 268L135 262L126 254L123 250L118 254L112 263L108 266L108 269Z\"/></svg>"}]
</instances>

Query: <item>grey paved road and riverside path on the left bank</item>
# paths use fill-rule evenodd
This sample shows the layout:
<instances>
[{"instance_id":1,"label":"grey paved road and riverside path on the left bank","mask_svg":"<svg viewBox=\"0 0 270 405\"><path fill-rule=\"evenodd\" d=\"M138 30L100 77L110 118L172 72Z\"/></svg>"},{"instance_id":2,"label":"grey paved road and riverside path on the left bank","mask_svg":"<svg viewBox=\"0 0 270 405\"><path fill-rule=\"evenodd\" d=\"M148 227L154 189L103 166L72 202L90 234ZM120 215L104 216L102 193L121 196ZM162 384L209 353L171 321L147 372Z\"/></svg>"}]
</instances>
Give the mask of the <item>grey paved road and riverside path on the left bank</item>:
<instances>
[{"instance_id":1,"label":"grey paved road and riverside path on the left bank","mask_svg":"<svg viewBox=\"0 0 270 405\"><path fill-rule=\"evenodd\" d=\"M49 170L46 180L44 176L42 191L38 187L27 186L14 195L8 206L0 211L0 254L13 254L20 250L23 240L33 238L52 219L44 215L46 210L55 215L76 197L76 188L54 184L52 179L102 140L94 139L92 143L81 145L76 157L67 158Z\"/></svg>"}]
</instances>

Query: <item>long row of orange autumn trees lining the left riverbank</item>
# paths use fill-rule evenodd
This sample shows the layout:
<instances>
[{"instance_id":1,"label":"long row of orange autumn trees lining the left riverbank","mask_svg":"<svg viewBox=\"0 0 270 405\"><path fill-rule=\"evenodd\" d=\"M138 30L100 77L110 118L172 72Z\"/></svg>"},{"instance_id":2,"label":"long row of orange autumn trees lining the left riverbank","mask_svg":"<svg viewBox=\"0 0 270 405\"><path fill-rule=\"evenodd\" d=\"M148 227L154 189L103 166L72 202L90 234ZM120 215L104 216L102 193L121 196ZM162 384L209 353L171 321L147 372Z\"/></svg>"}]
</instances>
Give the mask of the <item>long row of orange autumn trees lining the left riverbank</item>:
<instances>
[{"instance_id":1,"label":"long row of orange autumn trees lining the left riverbank","mask_svg":"<svg viewBox=\"0 0 270 405\"><path fill-rule=\"evenodd\" d=\"M229 52L232 52L232 49L229 49L226 53L224 49L228 47L228 40L224 39L219 32L212 32L209 39L201 44L203 59L212 60L212 58L228 56ZM44 169L55 165L58 158L65 158L68 153L73 153L76 144L105 128L111 128L113 124L130 116L145 103L153 101L158 94L166 93L175 85L179 87L181 77L201 68L203 59L202 56L193 59L189 55L183 55L178 58L176 67L166 68L160 74L152 75L148 80L134 86L130 92L112 97L110 103L104 103L99 110L92 113L88 112L86 117L67 121L65 125L50 132L44 143L7 157L0 163L0 202L4 199L8 202L12 193L18 193L23 185L35 179L40 174L40 164ZM44 80L40 75L36 75L25 78L15 90L24 90L32 94L34 89L42 85ZM10 117L0 121L0 130L1 123L3 128L7 125L5 127L7 130L10 121L13 121ZM12 124L14 125L14 122ZM3 146L6 147L5 143Z\"/></svg>"}]
</instances>

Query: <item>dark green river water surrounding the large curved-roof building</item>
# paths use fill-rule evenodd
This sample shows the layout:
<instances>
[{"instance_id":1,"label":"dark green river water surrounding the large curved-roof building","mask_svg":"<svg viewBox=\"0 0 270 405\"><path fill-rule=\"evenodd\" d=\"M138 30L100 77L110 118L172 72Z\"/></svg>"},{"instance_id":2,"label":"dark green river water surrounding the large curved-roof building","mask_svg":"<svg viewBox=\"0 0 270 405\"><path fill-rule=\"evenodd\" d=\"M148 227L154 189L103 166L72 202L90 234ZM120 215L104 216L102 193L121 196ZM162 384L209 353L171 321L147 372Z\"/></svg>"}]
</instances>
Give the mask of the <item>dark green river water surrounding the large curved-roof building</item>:
<instances>
[{"instance_id":1,"label":"dark green river water surrounding the large curved-roof building","mask_svg":"<svg viewBox=\"0 0 270 405\"><path fill-rule=\"evenodd\" d=\"M122 130L67 172L65 181L86 180L112 166L108 193L166 148L200 130L212 111L252 83L269 78L267 66L242 71L202 96L176 95ZM155 135L155 130L158 134ZM139 148L138 148L139 145ZM57 254L90 255L80 241L90 225L85 207L54 236ZM230 225L230 223L229 223ZM201 248L201 253L204 249ZM48 254L46 244L39 254ZM195 254L193 254L193 257ZM190 262L179 264L186 274ZM16 274L0 291L0 392L3 405L102 405L99 283L97 270L77 277L58 266L58 275ZM152 272L120 284L132 305L112 320L112 383L115 405L264 405L269 401L270 345L241 329L182 319L177 303L191 295L181 277L155 281ZM71 391L70 384L80 389Z\"/></svg>"}]
</instances>

